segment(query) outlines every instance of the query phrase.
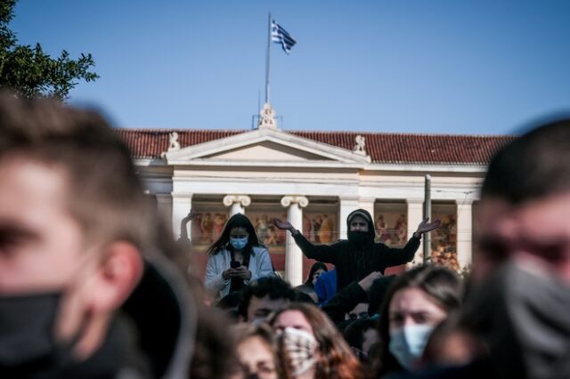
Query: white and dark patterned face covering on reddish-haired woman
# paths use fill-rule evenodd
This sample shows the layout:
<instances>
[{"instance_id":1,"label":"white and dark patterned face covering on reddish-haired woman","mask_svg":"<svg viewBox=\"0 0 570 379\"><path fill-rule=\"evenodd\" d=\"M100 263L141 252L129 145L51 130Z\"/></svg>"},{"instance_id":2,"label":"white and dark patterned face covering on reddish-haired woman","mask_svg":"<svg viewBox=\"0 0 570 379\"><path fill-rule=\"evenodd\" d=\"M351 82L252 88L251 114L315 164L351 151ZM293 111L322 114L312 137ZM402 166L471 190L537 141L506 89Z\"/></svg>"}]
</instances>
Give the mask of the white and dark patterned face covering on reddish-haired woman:
<instances>
[{"instance_id":1,"label":"white and dark patterned face covering on reddish-haired woman","mask_svg":"<svg viewBox=\"0 0 570 379\"><path fill-rule=\"evenodd\" d=\"M302 375L314 366L319 343L313 335L294 327L286 327L281 334L281 345L289 357L293 376Z\"/></svg>"}]
</instances>

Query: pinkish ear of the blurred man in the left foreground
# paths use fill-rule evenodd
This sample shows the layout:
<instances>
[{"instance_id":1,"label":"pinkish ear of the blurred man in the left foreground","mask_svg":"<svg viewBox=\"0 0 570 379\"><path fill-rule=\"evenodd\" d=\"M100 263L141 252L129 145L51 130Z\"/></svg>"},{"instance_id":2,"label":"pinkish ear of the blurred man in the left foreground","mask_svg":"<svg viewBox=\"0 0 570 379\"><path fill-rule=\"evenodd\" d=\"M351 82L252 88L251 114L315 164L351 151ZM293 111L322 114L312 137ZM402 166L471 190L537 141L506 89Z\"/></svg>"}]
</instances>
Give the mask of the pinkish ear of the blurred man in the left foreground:
<instances>
[{"instance_id":1,"label":"pinkish ear of the blurred man in the left foreground","mask_svg":"<svg viewBox=\"0 0 570 379\"><path fill-rule=\"evenodd\" d=\"M142 254L128 242L114 242L105 248L92 282L90 309L94 313L117 310L142 277Z\"/></svg>"}]
</instances>

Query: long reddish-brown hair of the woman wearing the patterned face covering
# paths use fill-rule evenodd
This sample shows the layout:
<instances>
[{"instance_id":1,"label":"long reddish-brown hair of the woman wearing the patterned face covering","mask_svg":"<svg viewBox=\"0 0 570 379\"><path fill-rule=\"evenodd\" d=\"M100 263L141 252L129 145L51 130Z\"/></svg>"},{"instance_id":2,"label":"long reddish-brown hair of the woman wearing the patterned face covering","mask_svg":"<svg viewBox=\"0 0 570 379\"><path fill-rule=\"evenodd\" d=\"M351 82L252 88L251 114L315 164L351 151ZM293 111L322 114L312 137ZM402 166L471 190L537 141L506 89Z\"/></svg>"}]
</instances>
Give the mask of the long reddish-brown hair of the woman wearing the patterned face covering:
<instances>
[{"instance_id":1,"label":"long reddish-brown hair of the woman wearing the patterned face covering","mask_svg":"<svg viewBox=\"0 0 570 379\"><path fill-rule=\"evenodd\" d=\"M314 338L319 343L320 358L316 363L315 379L360 379L364 377L360 362L354 357L343 336L330 319L314 305L294 302L288 308L275 313L271 324L288 310L298 310L313 327Z\"/></svg>"}]
</instances>

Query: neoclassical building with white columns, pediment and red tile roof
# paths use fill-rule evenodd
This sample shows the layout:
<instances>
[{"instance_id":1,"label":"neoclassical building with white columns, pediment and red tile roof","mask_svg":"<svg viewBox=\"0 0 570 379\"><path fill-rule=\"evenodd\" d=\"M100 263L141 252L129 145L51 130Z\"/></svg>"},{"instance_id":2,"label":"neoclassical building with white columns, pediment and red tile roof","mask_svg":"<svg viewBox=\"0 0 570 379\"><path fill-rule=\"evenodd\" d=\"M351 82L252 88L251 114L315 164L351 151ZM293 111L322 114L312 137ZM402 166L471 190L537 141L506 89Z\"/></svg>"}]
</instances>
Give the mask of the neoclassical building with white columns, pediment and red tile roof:
<instances>
[{"instance_id":1,"label":"neoclassical building with white columns, pediment and red tile roof","mask_svg":"<svg viewBox=\"0 0 570 379\"><path fill-rule=\"evenodd\" d=\"M312 262L276 230L287 219L314 243L346 238L346 216L368 210L379 240L401 246L423 216L424 182L431 176L432 259L455 270L471 262L474 208L489 159L513 136L253 130L118 129L146 188L172 222L175 236L190 208L195 270L235 213L254 224L273 265L293 285ZM423 242L422 242L423 243ZM420 246L416 261L422 260Z\"/></svg>"}]
</instances>

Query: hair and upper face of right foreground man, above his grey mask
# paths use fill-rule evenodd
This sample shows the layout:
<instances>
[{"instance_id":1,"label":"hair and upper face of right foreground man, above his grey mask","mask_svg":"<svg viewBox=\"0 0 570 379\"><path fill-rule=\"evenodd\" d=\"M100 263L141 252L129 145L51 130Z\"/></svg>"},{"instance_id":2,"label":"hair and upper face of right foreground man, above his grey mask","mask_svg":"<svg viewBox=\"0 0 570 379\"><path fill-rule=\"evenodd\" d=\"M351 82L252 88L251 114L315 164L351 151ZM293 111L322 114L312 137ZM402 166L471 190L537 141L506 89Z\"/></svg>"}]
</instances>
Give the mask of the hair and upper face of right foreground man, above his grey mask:
<instances>
[{"instance_id":1,"label":"hair and upper face of right foreground man, above his grey mask","mask_svg":"<svg viewBox=\"0 0 570 379\"><path fill-rule=\"evenodd\" d=\"M481 198L476 278L516 260L570 283L570 119L501 149Z\"/></svg>"}]
</instances>

